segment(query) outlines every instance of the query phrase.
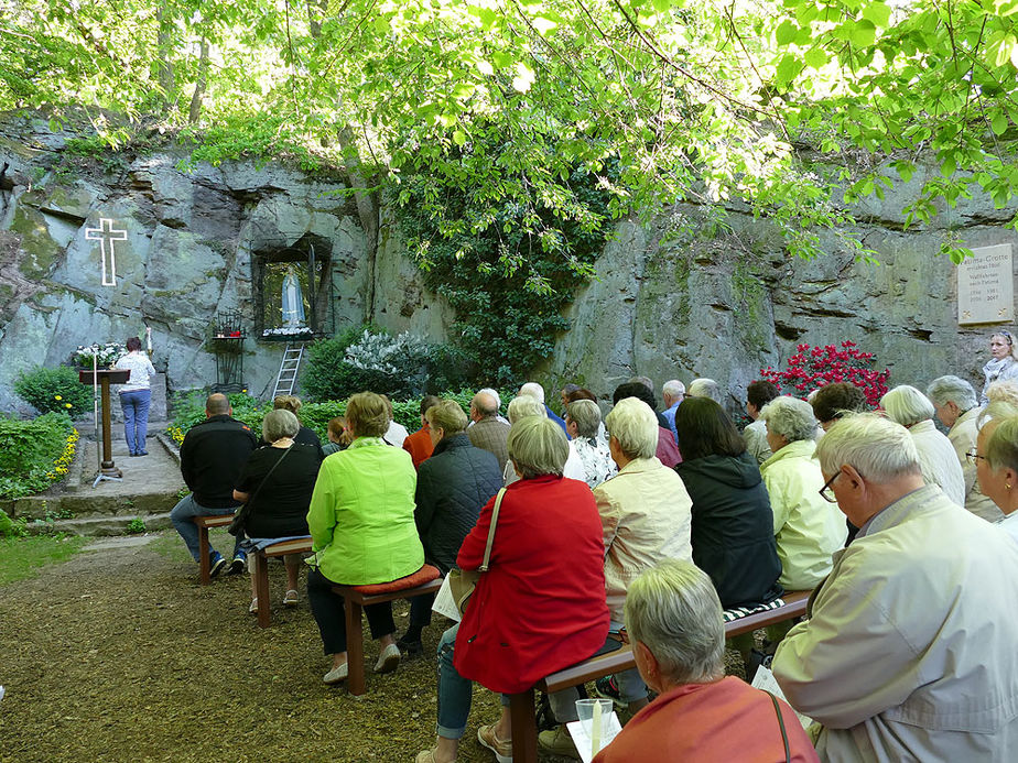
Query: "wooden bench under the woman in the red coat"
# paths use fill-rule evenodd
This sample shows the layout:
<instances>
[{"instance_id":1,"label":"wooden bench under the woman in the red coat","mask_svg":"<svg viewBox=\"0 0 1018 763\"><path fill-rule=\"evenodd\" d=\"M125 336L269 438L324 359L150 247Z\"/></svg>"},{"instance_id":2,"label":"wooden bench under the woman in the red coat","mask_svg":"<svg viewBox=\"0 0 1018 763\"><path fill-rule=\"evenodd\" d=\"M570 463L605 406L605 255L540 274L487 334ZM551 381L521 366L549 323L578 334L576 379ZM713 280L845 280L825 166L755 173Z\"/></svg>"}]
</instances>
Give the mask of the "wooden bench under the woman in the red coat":
<instances>
[{"instance_id":1,"label":"wooden bench under the woman in the red coat","mask_svg":"<svg viewBox=\"0 0 1018 763\"><path fill-rule=\"evenodd\" d=\"M788 591L782 598L784 604L776 609L725 623L725 639L748 633L767 625L793 620L805 614L806 603L812 591ZM581 686L614 673L636 667L636 658L629 644L607 654L591 657L576 665L571 665L538 682L527 691L509 697L509 719L512 728L513 763L537 763L538 728L534 721L534 690L552 694L573 686Z\"/></svg>"}]
</instances>

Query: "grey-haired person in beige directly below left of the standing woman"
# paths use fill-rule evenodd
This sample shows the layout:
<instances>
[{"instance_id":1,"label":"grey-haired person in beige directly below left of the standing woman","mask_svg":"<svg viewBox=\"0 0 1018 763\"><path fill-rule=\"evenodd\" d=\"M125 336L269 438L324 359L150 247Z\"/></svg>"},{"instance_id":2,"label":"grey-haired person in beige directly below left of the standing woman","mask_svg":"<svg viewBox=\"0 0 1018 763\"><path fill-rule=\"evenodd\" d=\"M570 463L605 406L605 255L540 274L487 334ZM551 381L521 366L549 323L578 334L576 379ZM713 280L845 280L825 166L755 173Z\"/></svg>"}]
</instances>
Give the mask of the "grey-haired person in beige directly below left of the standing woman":
<instances>
[{"instance_id":1,"label":"grey-haired person in beige directly below left of the standing woman","mask_svg":"<svg viewBox=\"0 0 1018 763\"><path fill-rule=\"evenodd\" d=\"M933 403L933 410L940 423L949 428L947 439L954 447L962 476L965 479L965 508L987 522L997 522L1004 517L997 505L979 489L975 464L967 458L970 450L976 446L978 427L976 422L983 410L976 400L975 390L959 377L940 377L927 386L927 397Z\"/></svg>"}]
</instances>

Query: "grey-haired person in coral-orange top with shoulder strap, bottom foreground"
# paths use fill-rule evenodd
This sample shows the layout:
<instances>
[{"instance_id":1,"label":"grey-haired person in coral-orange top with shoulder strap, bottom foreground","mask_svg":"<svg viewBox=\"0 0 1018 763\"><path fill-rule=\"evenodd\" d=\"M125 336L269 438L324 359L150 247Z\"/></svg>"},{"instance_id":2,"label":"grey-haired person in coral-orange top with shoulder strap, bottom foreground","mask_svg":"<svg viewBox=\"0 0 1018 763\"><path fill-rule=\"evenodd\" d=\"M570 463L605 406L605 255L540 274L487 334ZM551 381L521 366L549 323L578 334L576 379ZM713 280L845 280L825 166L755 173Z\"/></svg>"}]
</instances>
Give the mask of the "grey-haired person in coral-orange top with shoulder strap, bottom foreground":
<instances>
[{"instance_id":1,"label":"grey-haired person in coral-orange top with shoulder strap, bottom foreground","mask_svg":"<svg viewBox=\"0 0 1018 763\"><path fill-rule=\"evenodd\" d=\"M689 562L645 571L629 587L626 623L637 667L658 698L594 763L817 760L783 700L725 676L721 601L706 573Z\"/></svg>"}]
</instances>

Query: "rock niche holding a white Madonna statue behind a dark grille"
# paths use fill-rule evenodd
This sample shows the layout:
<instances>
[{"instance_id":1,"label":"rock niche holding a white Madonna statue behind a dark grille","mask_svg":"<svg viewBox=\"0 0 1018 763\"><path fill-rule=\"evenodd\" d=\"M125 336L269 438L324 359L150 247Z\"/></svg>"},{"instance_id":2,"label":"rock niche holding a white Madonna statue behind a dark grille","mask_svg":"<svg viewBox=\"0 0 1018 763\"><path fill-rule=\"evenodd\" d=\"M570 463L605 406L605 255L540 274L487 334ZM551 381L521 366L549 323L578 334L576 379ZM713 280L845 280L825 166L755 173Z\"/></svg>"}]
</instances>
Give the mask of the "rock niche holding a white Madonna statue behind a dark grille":
<instances>
[{"instance_id":1,"label":"rock niche holding a white Madonna statue behind a dark grille","mask_svg":"<svg viewBox=\"0 0 1018 763\"><path fill-rule=\"evenodd\" d=\"M328 239L262 241L251 257L254 336L311 339L332 327L332 250Z\"/></svg>"}]
</instances>

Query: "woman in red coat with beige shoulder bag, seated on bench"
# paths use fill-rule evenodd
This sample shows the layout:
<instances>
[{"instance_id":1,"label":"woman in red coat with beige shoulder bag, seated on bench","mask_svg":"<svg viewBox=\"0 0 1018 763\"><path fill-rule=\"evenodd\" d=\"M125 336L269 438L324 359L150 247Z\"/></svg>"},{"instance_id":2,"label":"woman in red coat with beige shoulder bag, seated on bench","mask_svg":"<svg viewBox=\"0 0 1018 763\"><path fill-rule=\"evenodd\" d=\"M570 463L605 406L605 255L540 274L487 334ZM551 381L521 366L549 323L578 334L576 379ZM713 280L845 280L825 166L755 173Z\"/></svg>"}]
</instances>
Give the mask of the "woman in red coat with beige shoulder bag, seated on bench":
<instances>
[{"instance_id":1,"label":"woman in red coat with beige shoulder bag, seated on bench","mask_svg":"<svg viewBox=\"0 0 1018 763\"><path fill-rule=\"evenodd\" d=\"M605 547L594 495L562 477L568 444L562 428L528 416L509 432L509 458L521 477L502 498L488 571L480 576L463 622L438 645L438 744L418 763L456 760L470 711L472 682L503 695L586 660L605 644ZM461 569L484 558L495 500L459 549ZM557 720L573 708L554 708ZM497 723L477 739L505 763L512 760L508 697Z\"/></svg>"}]
</instances>

